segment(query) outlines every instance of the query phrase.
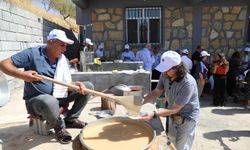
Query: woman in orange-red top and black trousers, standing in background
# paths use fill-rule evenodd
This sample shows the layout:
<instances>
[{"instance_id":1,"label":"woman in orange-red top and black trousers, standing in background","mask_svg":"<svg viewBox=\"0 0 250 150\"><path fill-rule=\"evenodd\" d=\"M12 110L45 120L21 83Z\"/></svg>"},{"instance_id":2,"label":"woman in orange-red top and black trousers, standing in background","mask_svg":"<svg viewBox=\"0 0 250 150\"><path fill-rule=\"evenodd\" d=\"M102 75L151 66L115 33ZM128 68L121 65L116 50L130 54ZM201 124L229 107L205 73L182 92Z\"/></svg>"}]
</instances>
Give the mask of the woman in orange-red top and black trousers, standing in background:
<instances>
[{"instance_id":1,"label":"woman in orange-red top and black trousers, standing in background","mask_svg":"<svg viewBox=\"0 0 250 150\"><path fill-rule=\"evenodd\" d=\"M213 105L225 105L225 92L226 92L226 74L229 69L229 63L223 53L218 53L213 62L213 78L214 78L214 95Z\"/></svg>"}]
</instances>

